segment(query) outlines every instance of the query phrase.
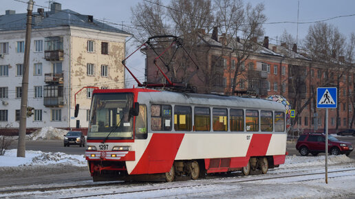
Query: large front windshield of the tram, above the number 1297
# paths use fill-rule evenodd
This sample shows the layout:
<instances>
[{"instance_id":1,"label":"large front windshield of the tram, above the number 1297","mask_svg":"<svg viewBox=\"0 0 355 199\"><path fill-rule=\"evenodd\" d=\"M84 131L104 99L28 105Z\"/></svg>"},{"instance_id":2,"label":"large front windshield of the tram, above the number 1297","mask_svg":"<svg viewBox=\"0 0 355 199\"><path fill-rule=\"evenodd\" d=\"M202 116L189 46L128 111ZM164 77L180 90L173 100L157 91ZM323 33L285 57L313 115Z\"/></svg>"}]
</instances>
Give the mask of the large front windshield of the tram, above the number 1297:
<instances>
[{"instance_id":1,"label":"large front windshield of the tram, above the number 1297","mask_svg":"<svg viewBox=\"0 0 355 199\"><path fill-rule=\"evenodd\" d=\"M95 93L87 139L133 139L133 93Z\"/></svg>"}]
</instances>

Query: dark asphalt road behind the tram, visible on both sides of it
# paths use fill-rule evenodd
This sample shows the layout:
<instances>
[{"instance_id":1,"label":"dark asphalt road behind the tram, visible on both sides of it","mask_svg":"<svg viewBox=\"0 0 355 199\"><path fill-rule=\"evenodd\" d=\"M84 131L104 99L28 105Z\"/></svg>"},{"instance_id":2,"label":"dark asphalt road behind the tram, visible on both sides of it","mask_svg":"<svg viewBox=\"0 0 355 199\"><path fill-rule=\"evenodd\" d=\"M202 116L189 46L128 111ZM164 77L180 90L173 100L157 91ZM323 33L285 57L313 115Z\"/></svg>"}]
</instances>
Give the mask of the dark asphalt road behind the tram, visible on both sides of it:
<instances>
[{"instance_id":1,"label":"dark asphalt road behind the tram, visible on both sides of it","mask_svg":"<svg viewBox=\"0 0 355 199\"><path fill-rule=\"evenodd\" d=\"M355 137L352 136L338 136L336 137L341 141L349 141L355 146ZM288 141L287 152L288 155L300 156L296 150L296 141ZM10 145L10 149L17 148L17 141L14 141ZM85 147L79 147L78 145L71 145L70 147L64 147L62 140L50 140L50 141L26 141L26 150L40 150L42 152L63 152L65 154L85 154ZM324 153L320 154L324 155ZM349 155L350 158L355 159L355 152L353 151Z\"/></svg>"}]
</instances>

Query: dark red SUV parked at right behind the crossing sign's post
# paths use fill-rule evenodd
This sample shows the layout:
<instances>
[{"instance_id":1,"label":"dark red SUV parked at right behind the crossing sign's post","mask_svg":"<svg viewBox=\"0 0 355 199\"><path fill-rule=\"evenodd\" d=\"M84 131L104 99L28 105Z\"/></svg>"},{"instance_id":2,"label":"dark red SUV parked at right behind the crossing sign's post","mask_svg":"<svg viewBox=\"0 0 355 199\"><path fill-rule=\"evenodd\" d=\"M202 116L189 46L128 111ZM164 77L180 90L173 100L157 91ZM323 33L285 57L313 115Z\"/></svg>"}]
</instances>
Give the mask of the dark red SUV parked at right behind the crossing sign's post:
<instances>
[{"instance_id":1,"label":"dark red SUV parked at right behind the crossing sign's post","mask_svg":"<svg viewBox=\"0 0 355 199\"><path fill-rule=\"evenodd\" d=\"M297 140L296 149L303 156L307 156L309 153L317 156L319 153L325 152L325 134L316 132L301 134ZM340 141L328 134L328 152L330 154L349 156L353 149L352 143Z\"/></svg>"}]
</instances>

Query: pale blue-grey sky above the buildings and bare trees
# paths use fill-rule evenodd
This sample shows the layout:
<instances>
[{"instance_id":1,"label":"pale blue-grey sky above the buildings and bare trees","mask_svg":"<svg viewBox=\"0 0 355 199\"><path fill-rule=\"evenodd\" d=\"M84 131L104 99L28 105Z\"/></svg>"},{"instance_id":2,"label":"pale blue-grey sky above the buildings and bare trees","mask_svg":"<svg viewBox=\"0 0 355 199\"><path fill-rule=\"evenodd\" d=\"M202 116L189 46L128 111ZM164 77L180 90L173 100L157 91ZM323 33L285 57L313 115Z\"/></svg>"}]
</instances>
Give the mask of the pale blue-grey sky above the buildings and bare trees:
<instances>
[{"instance_id":1,"label":"pale blue-grey sky above the buildings and bare trees","mask_svg":"<svg viewBox=\"0 0 355 199\"><path fill-rule=\"evenodd\" d=\"M123 30L125 30L125 25L131 25L131 7L142 1L143 0L56 0L56 2L62 4L62 9L70 9L80 14L93 15L94 19L105 19L105 21L112 23L123 24ZM27 0L0 0L0 14L5 14L5 10L16 10L17 13L27 12L27 3L23 2L27 2ZM166 2L169 1L163 0L163 3L166 4ZM294 38L297 37L296 22L298 3L299 40L305 37L308 32L308 27L310 24L313 24L308 22L333 17L338 18L325 22L338 27L338 30L345 36L349 36L351 32L355 32L355 1L352 0L250 0L249 2L253 5L257 3L265 4L265 14L268 17L267 23L293 22L264 25L266 30L265 36L269 36L270 43L276 43L277 36L281 36L284 30L287 30ZM34 12L36 12L37 8L42 8L37 5L48 7L48 4L49 0L35 0ZM134 49L131 48L129 50L132 51ZM141 64L142 62L140 62L140 65ZM142 75L141 71L140 75Z\"/></svg>"}]
</instances>

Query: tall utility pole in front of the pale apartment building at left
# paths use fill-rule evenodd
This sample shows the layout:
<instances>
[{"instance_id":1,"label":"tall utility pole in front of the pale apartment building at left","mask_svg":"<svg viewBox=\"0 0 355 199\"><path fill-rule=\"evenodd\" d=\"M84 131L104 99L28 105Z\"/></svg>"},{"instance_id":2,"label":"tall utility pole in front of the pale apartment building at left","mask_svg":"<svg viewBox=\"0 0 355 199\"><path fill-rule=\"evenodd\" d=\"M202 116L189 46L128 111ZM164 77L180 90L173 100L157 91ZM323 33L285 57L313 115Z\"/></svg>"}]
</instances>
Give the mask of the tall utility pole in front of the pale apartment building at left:
<instances>
[{"instance_id":1,"label":"tall utility pole in front of the pale apartment building at left","mask_svg":"<svg viewBox=\"0 0 355 199\"><path fill-rule=\"evenodd\" d=\"M23 58L23 76L22 76L22 96L21 96L21 110L20 110L20 129L19 129L19 143L17 145L17 156L25 157L26 150L26 119L27 119L27 99L28 99L28 73L30 70L30 45L31 45L31 31L32 31L32 10L33 0L28 1L27 8L27 23L26 23L26 38L25 38L25 55Z\"/></svg>"}]
</instances>

